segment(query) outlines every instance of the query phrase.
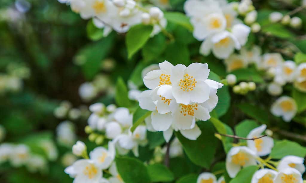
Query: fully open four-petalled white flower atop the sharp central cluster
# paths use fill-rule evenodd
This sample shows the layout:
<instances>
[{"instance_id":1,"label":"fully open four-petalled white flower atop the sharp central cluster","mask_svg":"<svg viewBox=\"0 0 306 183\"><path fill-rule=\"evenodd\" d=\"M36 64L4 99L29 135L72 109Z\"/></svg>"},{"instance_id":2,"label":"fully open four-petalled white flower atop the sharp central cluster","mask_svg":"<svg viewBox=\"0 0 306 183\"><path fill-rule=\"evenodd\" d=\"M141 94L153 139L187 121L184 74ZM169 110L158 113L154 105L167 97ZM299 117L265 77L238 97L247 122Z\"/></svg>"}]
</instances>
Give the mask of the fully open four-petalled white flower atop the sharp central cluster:
<instances>
[{"instance_id":1,"label":"fully open four-petalled white flower atop the sharp central cluster","mask_svg":"<svg viewBox=\"0 0 306 183\"><path fill-rule=\"evenodd\" d=\"M170 81L172 94L177 103L188 105L190 102L207 101L210 89L205 80L209 72L207 64L192 63L188 67L182 64L174 66Z\"/></svg>"}]
</instances>

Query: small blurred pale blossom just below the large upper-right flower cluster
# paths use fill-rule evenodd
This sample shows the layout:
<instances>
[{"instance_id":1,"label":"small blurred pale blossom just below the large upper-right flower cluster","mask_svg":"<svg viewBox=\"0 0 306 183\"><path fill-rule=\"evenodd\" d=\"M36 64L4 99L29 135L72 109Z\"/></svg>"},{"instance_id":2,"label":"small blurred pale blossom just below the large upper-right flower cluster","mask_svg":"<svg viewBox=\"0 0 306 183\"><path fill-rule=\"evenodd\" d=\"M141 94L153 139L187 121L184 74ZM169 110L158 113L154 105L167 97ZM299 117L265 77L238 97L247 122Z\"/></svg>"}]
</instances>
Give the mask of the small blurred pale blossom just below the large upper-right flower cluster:
<instances>
[{"instance_id":1,"label":"small blurred pale blossom just below the large upper-right flower cluster","mask_svg":"<svg viewBox=\"0 0 306 183\"><path fill-rule=\"evenodd\" d=\"M261 48L259 46L253 46L250 50L246 49L245 47L242 47L240 50L240 54L249 64L260 64Z\"/></svg>"}]
</instances>

